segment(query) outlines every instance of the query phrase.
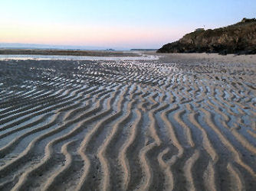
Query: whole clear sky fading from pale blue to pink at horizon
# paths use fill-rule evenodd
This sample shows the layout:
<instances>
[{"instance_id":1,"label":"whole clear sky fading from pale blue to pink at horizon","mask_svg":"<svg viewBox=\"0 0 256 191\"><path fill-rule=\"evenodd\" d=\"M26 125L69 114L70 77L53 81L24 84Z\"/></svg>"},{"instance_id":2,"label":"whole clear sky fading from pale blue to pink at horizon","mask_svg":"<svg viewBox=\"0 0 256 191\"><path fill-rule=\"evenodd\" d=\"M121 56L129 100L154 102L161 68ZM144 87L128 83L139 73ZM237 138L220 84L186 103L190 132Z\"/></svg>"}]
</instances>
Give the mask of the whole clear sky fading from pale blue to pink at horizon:
<instances>
[{"instance_id":1,"label":"whole clear sky fading from pale blue to pink at horizon","mask_svg":"<svg viewBox=\"0 0 256 191\"><path fill-rule=\"evenodd\" d=\"M159 48L256 18L255 0L1 0L0 43Z\"/></svg>"}]
</instances>

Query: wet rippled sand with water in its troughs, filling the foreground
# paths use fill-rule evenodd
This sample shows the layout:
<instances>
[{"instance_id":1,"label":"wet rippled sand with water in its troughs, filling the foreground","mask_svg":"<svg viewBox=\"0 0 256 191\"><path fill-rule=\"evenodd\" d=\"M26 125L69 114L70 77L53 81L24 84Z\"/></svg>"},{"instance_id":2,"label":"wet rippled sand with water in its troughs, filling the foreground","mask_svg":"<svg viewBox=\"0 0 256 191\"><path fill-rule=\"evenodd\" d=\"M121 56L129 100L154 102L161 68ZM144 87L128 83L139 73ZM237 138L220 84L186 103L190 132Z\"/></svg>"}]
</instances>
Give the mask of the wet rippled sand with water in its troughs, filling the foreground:
<instances>
[{"instance_id":1,"label":"wet rippled sand with water in its troughs, filling the foreground","mask_svg":"<svg viewBox=\"0 0 256 191\"><path fill-rule=\"evenodd\" d=\"M0 61L0 190L256 190L256 67Z\"/></svg>"}]
</instances>

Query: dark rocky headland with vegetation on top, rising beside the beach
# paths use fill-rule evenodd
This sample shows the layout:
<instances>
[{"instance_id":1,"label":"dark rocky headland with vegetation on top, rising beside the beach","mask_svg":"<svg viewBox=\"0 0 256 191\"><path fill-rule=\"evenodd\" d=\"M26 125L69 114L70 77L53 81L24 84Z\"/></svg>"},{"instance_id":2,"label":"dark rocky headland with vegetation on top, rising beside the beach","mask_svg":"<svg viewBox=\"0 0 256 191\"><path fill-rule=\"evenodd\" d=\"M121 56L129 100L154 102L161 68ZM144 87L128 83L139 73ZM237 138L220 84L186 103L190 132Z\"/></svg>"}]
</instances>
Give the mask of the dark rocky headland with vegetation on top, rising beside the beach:
<instances>
[{"instance_id":1,"label":"dark rocky headland with vegetation on top, rising beside the beach","mask_svg":"<svg viewBox=\"0 0 256 191\"><path fill-rule=\"evenodd\" d=\"M166 44L158 53L256 53L256 19L214 30L199 30Z\"/></svg>"}]
</instances>

